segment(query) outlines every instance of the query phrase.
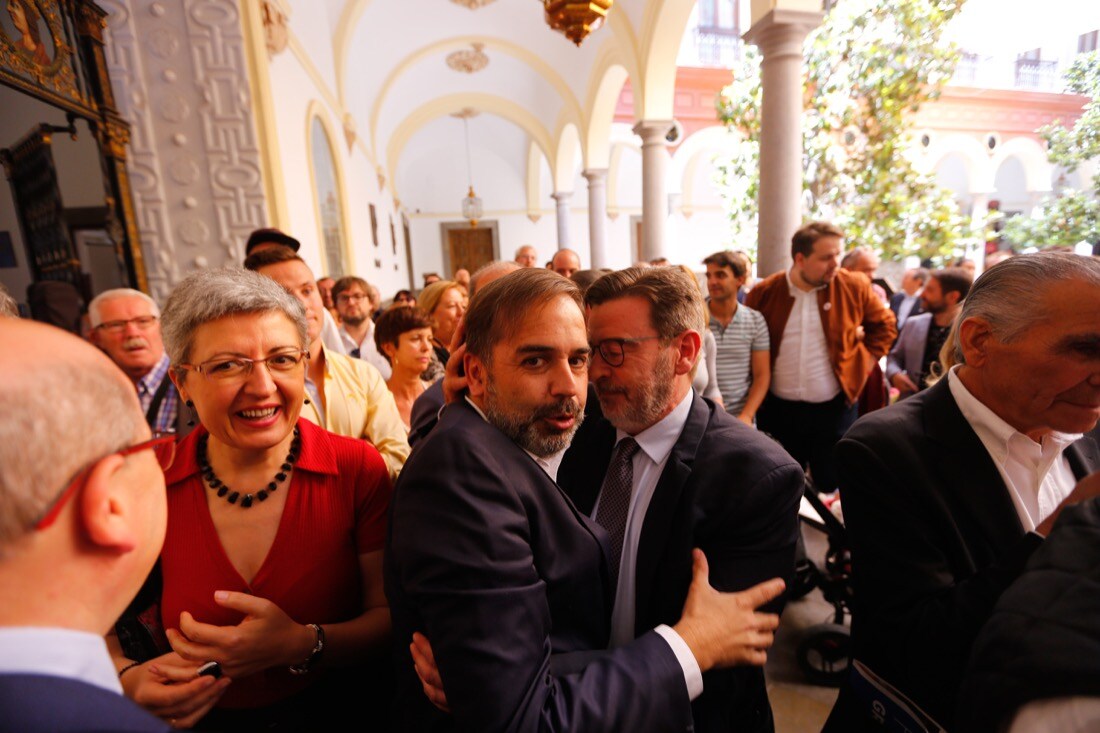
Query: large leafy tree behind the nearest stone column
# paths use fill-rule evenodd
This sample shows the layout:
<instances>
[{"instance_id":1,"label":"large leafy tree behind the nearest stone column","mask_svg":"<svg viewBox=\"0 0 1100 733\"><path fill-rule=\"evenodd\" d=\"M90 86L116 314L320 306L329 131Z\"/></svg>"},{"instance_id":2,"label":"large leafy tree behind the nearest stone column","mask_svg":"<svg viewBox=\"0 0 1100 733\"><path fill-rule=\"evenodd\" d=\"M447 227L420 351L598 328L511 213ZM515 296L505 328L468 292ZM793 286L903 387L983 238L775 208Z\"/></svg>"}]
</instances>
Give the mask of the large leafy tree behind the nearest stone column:
<instances>
[{"instance_id":1,"label":"large leafy tree behind the nearest stone column","mask_svg":"<svg viewBox=\"0 0 1100 733\"><path fill-rule=\"evenodd\" d=\"M835 221L888 259L943 256L970 237L949 192L906 155L912 113L939 96L958 51L943 40L963 0L840 0L806 40L803 215ZM744 143L722 161L738 243L755 249L760 56L747 48L717 100ZM751 243L751 244L750 244Z\"/></svg>"}]
</instances>

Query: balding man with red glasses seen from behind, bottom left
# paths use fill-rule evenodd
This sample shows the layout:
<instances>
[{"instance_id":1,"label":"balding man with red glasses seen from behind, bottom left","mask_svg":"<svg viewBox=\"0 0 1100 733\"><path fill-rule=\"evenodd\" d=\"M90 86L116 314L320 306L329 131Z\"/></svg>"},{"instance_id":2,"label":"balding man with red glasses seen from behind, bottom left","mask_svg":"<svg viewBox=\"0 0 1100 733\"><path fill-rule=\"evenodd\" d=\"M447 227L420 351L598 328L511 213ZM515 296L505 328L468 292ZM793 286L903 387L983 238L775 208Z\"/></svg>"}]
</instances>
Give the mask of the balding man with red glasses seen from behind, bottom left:
<instances>
[{"instance_id":1,"label":"balding man with red glasses seen from behind, bottom left","mask_svg":"<svg viewBox=\"0 0 1100 733\"><path fill-rule=\"evenodd\" d=\"M0 731L168 731L122 696L103 634L161 551L173 438L148 439L107 357L41 324L0 321ZM195 683L210 704L224 687Z\"/></svg>"}]
</instances>

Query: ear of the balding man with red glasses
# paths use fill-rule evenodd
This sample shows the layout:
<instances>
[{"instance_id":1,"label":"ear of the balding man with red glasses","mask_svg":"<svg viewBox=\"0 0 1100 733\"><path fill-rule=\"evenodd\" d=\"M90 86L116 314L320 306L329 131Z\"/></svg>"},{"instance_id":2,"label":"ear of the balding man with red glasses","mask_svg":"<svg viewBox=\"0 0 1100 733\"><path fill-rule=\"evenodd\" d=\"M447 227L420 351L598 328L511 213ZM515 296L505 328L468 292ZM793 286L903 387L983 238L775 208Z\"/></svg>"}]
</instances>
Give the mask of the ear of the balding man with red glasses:
<instances>
[{"instance_id":1,"label":"ear of the balding man with red glasses","mask_svg":"<svg viewBox=\"0 0 1100 733\"><path fill-rule=\"evenodd\" d=\"M86 538L94 545L116 553L129 553L138 546L134 532L133 486L122 473L125 458L119 455L102 459L88 473L77 511Z\"/></svg>"}]
</instances>

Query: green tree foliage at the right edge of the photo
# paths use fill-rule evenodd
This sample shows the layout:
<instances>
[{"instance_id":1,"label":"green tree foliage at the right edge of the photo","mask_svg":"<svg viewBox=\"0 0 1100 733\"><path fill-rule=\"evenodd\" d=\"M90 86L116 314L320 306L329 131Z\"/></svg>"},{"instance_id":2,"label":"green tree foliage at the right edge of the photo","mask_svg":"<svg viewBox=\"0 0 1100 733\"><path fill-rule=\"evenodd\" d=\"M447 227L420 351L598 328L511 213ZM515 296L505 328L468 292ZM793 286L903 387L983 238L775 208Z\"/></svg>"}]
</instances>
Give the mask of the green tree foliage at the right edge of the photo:
<instances>
[{"instance_id":1,"label":"green tree foliage at the right edge of the photo","mask_svg":"<svg viewBox=\"0 0 1100 733\"><path fill-rule=\"evenodd\" d=\"M1066 73L1066 90L1089 98L1072 128L1062 122L1038 133L1047 142L1050 162L1076 171L1088 160L1100 160L1100 52L1081 54ZM1100 174L1092 190L1064 189L1046 200L1034 217L1012 217L1001 236L1014 248L1072 247L1078 242L1100 242Z\"/></svg>"}]
</instances>

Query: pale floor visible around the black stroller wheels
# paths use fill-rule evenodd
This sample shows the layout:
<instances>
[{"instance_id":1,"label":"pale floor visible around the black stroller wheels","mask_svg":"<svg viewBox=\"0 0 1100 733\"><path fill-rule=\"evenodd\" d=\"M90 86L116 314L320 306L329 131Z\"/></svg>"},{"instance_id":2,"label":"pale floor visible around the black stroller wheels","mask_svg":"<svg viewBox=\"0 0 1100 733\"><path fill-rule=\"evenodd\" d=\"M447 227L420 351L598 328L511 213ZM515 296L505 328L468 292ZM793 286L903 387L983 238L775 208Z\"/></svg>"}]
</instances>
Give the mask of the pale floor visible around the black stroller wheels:
<instances>
[{"instance_id":1,"label":"pale floor visible around the black stroller wheels","mask_svg":"<svg viewBox=\"0 0 1100 733\"><path fill-rule=\"evenodd\" d=\"M825 554L823 535L803 528L807 555L818 565ZM765 675L768 696L776 715L776 733L818 733L836 701L836 689L806 681L799 669L795 650L811 626L832 623L833 606L820 590L788 604L776 634L776 644L768 654Z\"/></svg>"}]
</instances>

